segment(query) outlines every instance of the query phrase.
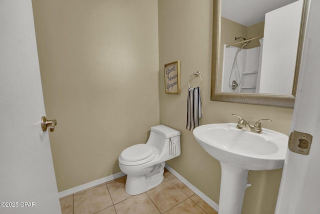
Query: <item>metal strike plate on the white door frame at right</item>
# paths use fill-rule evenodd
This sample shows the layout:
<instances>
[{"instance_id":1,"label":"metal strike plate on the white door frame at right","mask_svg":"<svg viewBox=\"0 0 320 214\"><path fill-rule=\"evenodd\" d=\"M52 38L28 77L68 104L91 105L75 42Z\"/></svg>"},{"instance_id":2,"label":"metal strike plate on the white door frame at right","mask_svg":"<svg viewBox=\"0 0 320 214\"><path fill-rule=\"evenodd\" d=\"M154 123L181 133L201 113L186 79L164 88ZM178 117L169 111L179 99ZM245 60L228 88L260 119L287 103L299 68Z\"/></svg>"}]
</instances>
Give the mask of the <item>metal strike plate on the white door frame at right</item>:
<instances>
[{"instance_id":1,"label":"metal strike plate on the white door frame at right","mask_svg":"<svg viewBox=\"0 0 320 214\"><path fill-rule=\"evenodd\" d=\"M311 147L312 135L293 131L289 136L288 147L295 153L308 155Z\"/></svg>"}]
</instances>

